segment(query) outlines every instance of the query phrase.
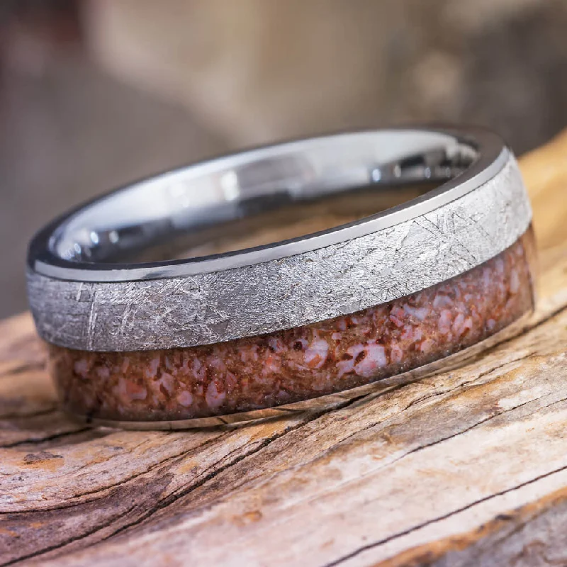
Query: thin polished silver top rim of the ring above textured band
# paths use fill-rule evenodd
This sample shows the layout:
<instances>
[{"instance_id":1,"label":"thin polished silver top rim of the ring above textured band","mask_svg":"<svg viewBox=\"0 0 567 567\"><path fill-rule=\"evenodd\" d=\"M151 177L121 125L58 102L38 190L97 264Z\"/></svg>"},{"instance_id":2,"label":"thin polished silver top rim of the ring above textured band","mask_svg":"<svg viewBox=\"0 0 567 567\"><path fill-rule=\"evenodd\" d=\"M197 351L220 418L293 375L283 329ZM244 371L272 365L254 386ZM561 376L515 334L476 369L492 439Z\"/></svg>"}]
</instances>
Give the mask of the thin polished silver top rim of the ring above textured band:
<instances>
[{"instance_id":1,"label":"thin polished silver top rim of the ring above textured band","mask_svg":"<svg viewBox=\"0 0 567 567\"><path fill-rule=\"evenodd\" d=\"M454 179L446 181L426 195L412 199L408 203L376 213L361 220L348 223L330 230L324 230L311 235L304 235L295 239L272 242L250 249L243 249L237 252L226 252L216 254L213 257L195 257L182 261L157 262L152 264L128 264L127 267L119 264L96 264L81 263L62 259L57 254L50 251L50 238L62 223L71 218L77 210L64 215L60 220L49 225L33 239L34 249L39 254L30 254L30 268L38 274L50 276L54 279L69 281L135 281L142 279L164 279L172 277L190 276L195 274L206 274L215 271L227 270L251 264L277 260L311 250L339 244L357 237L369 235L378 230L391 228L394 225L403 223L417 216L424 215L430 211L454 201L456 198L466 195L469 191L478 189L486 181L497 175L510 159L510 150L503 144L503 141L488 130L470 128L461 130L459 128L435 129L414 129L398 128L395 130L366 130L361 132L343 133L338 135L322 136L309 138L307 140L296 140L275 146L260 147L256 150L247 150L234 155L228 155L217 159L209 160L201 164L193 164L189 167L179 169L175 172L167 172L155 178L162 183L174 184L178 176L192 174L213 174L219 168L235 166L242 163L254 163L255 160L262 160L270 157L274 149L280 152L300 152L307 149L310 145L322 141L344 140L353 137L352 144L360 136L371 137L379 133L381 135L404 135L408 136L410 142L411 135L422 136L432 135L447 137L449 146L457 147L459 144L473 144L478 146L478 158L470 167ZM360 141L360 140L359 140ZM439 140L437 140L439 143ZM407 148L406 148L407 149ZM409 151L409 150L408 150ZM280 156L281 157L281 156ZM134 184L135 186L136 184ZM124 188L128 189L128 187ZM99 200L96 200L99 201ZM96 201L87 205L96 206Z\"/></svg>"}]
</instances>

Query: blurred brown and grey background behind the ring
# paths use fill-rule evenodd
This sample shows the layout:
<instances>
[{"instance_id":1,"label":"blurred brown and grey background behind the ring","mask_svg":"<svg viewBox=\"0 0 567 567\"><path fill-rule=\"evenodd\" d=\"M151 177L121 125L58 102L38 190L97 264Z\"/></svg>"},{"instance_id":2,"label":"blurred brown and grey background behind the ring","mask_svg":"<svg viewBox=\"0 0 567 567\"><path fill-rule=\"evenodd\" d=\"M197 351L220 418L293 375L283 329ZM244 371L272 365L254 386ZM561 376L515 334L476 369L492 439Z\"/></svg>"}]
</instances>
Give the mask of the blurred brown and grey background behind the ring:
<instances>
[{"instance_id":1,"label":"blurred brown and grey background behind the ring","mask_svg":"<svg viewBox=\"0 0 567 567\"><path fill-rule=\"evenodd\" d=\"M567 0L0 0L0 317L29 238L140 176L344 128L567 125Z\"/></svg>"}]
</instances>

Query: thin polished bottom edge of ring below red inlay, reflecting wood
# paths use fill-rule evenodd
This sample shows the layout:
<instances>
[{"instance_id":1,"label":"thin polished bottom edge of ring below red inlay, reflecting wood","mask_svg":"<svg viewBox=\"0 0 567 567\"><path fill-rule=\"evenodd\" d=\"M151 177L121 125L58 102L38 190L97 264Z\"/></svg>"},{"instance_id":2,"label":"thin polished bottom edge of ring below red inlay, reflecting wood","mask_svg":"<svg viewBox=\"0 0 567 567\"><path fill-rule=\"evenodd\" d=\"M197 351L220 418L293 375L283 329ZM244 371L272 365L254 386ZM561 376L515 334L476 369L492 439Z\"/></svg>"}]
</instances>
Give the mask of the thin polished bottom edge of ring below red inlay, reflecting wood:
<instances>
[{"instance_id":1,"label":"thin polished bottom edge of ring below red inlay, reflecting wood","mask_svg":"<svg viewBox=\"0 0 567 567\"><path fill-rule=\"evenodd\" d=\"M64 410L65 414L75 422L92 425L94 427L112 427L114 429L125 430L185 430L198 429L203 427L237 427L259 423L265 420L273 420L278 418L301 417L308 413L318 413L325 410L338 410L344 405L352 403L353 400L361 398L364 403L366 396L371 394L380 394L399 386L405 386L408 383L417 381L434 374L447 373L470 364L472 359L485 353L488 349L497 347L507 340L520 335L527 327L532 319L533 310L525 313L515 322L505 327L500 332L495 333L491 337L481 342L473 344L467 349L463 349L448 357L438 359L425 364L417 369L396 374L390 378L383 378L373 383L351 388L342 392L322 395L319 398L310 398L301 402L279 405L274 408L266 408L263 410L252 410L249 412L233 413L229 415L216 415L214 417L196 417L189 420L164 420L164 421L119 421L106 420L97 417L88 417L79 415L69 410Z\"/></svg>"}]
</instances>

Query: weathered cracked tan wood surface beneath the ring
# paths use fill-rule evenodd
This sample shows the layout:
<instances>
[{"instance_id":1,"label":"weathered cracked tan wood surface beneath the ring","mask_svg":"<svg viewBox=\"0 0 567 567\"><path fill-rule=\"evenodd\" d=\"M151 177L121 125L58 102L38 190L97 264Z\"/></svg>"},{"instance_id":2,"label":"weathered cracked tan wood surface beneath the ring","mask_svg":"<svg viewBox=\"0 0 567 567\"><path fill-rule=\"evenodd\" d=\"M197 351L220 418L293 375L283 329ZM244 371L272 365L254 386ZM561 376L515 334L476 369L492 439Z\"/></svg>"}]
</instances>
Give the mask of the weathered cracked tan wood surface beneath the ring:
<instances>
[{"instance_id":1,"label":"weathered cracked tan wood surface beneath the ring","mask_svg":"<svg viewBox=\"0 0 567 567\"><path fill-rule=\"evenodd\" d=\"M567 135L524 157L529 330L344 407L123 432L57 412L29 315L0 323L0 563L567 564Z\"/></svg>"}]
</instances>

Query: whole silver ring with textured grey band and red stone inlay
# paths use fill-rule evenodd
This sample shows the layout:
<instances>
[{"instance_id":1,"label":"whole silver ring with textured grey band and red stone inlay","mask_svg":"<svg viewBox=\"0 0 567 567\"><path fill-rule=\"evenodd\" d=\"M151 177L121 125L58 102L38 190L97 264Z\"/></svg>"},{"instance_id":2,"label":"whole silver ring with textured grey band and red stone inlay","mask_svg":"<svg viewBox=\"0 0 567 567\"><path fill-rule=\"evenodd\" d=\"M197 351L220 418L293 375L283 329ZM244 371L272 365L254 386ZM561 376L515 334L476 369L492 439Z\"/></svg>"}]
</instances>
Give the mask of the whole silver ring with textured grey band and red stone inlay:
<instances>
[{"instance_id":1,"label":"whole silver ring with textured grey band and red stone inlay","mask_svg":"<svg viewBox=\"0 0 567 567\"><path fill-rule=\"evenodd\" d=\"M486 130L327 135L70 211L30 243L28 298L81 420L271 417L510 332L534 308L531 220L515 158Z\"/></svg>"}]
</instances>

